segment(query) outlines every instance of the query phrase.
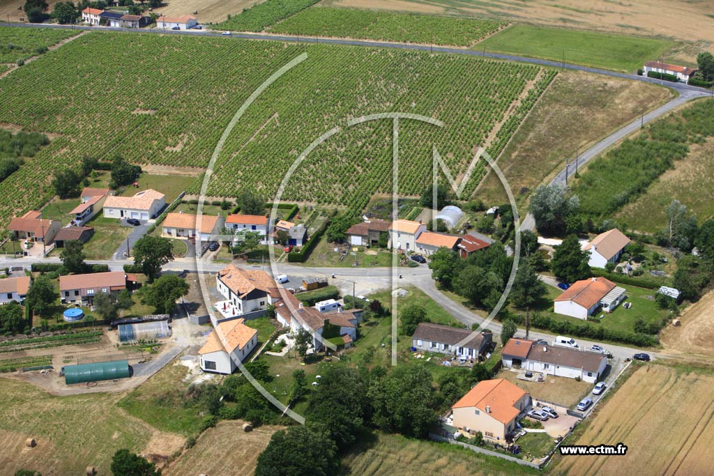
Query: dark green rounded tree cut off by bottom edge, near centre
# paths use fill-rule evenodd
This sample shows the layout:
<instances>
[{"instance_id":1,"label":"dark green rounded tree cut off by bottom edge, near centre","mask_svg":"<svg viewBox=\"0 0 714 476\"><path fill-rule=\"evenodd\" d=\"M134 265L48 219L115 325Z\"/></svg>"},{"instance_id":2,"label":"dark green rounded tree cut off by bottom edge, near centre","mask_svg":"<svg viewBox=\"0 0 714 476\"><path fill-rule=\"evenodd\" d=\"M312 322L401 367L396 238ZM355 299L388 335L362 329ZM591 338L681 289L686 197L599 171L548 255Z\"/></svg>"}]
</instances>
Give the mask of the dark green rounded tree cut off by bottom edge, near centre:
<instances>
[{"instance_id":1,"label":"dark green rounded tree cut off by bottom edge, near centre","mask_svg":"<svg viewBox=\"0 0 714 476\"><path fill-rule=\"evenodd\" d=\"M306 425L275 432L258 456L256 476L328 476L336 474L337 447L324 431Z\"/></svg>"}]
</instances>

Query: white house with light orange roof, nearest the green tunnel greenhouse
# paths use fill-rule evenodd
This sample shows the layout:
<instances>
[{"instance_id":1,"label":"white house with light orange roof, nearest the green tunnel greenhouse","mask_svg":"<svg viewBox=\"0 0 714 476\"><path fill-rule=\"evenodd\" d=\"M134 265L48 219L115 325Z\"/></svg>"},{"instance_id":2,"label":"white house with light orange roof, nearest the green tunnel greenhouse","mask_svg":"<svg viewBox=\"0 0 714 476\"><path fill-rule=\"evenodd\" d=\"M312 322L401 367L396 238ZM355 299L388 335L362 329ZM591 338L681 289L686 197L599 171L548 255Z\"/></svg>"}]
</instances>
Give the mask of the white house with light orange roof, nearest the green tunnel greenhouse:
<instances>
[{"instance_id":1,"label":"white house with light orange roof, nearest the green tunnel greenhouse","mask_svg":"<svg viewBox=\"0 0 714 476\"><path fill-rule=\"evenodd\" d=\"M208 340L198 350L201 370L231 374L258 344L258 331L245 325L245 319L218 323L208 334Z\"/></svg>"}]
</instances>

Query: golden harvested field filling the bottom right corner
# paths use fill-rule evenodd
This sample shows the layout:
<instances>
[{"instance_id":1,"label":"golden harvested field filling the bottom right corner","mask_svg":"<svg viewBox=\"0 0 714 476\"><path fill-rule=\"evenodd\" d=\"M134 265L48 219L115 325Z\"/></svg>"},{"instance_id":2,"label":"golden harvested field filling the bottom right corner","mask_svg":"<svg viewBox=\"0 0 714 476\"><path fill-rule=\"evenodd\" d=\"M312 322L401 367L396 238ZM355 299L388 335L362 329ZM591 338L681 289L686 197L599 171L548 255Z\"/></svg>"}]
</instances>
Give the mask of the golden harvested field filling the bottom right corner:
<instances>
[{"instance_id":1,"label":"golden harvested field filling the bottom right corner","mask_svg":"<svg viewBox=\"0 0 714 476\"><path fill-rule=\"evenodd\" d=\"M599 408L576 445L628 447L623 456L558 457L554 475L712 474L713 375L643 365Z\"/></svg>"}]
</instances>

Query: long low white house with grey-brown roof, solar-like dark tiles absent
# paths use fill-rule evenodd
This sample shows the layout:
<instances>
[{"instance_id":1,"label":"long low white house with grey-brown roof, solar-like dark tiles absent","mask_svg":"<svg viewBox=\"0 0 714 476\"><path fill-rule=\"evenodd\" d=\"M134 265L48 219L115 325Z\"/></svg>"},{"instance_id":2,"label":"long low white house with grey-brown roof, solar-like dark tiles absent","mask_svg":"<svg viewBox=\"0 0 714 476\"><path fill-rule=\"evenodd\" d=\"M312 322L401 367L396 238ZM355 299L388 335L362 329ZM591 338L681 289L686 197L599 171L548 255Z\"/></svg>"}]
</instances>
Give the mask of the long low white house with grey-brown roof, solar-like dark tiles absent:
<instances>
[{"instance_id":1,"label":"long low white house with grey-brown roof, solar-like dark tiles absent","mask_svg":"<svg viewBox=\"0 0 714 476\"><path fill-rule=\"evenodd\" d=\"M468 360L483 358L491 350L492 342L491 333L473 333L468 329L433 323L419 324L411 338L412 347L418 350L458 355Z\"/></svg>"}]
</instances>

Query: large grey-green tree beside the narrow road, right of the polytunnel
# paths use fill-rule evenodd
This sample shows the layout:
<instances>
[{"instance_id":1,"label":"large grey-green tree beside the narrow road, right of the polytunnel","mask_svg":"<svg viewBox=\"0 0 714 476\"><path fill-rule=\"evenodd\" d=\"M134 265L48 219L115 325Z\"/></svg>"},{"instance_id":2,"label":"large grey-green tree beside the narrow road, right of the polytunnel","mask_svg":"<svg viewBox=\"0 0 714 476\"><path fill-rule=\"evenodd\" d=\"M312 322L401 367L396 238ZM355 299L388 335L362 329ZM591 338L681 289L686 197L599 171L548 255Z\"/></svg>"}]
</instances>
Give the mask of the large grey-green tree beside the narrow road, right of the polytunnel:
<instances>
[{"instance_id":1,"label":"large grey-green tree beside the narrow road, right of the polytunnel","mask_svg":"<svg viewBox=\"0 0 714 476\"><path fill-rule=\"evenodd\" d=\"M531 196L530 211L542 233L563 233L568 216L578 213L579 208L578 197L570 196L568 187L562 183L538 186Z\"/></svg>"}]
</instances>

